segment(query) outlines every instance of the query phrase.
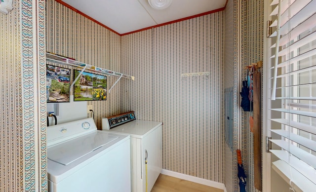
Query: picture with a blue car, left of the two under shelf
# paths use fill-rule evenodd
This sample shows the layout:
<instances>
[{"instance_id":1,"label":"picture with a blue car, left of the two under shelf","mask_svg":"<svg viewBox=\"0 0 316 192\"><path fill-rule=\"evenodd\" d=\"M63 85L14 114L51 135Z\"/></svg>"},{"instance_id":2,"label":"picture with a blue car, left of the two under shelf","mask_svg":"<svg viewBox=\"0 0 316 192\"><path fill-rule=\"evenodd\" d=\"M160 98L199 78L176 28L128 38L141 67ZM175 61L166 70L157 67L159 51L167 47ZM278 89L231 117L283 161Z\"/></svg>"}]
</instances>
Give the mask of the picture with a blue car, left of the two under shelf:
<instances>
[{"instance_id":1,"label":"picture with a blue car, left of the two under shelf","mask_svg":"<svg viewBox=\"0 0 316 192\"><path fill-rule=\"evenodd\" d=\"M70 102L70 69L46 64L46 102Z\"/></svg>"}]
</instances>

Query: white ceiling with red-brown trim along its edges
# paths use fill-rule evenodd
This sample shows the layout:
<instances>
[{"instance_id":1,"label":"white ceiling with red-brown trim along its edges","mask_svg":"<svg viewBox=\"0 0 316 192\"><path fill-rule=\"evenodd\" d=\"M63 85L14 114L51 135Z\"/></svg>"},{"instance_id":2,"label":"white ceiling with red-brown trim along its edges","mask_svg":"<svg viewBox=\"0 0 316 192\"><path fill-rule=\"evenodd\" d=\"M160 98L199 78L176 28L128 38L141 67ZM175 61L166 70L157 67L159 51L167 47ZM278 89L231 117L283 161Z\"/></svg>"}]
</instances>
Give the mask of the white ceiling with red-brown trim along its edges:
<instances>
[{"instance_id":1,"label":"white ceiling with red-brown trim along its edges","mask_svg":"<svg viewBox=\"0 0 316 192\"><path fill-rule=\"evenodd\" d=\"M119 35L224 9L226 0L172 0L154 9L148 0L56 0ZM77 9L77 10L76 10Z\"/></svg>"}]
</instances>

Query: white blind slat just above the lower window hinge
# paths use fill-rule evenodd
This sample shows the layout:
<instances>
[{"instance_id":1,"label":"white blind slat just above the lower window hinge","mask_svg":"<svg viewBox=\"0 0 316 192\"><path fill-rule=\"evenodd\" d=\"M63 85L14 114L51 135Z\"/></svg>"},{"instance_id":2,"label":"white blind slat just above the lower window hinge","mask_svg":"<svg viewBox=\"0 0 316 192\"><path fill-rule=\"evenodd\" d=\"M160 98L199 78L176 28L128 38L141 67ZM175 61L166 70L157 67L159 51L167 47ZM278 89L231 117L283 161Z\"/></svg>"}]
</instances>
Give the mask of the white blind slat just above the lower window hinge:
<instances>
[{"instance_id":1,"label":"white blind slat just above the lower window hinge","mask_svg":"<svg viewBox=\"0 0 316 192\"><path fill-rule=\"evenodd\" d=\"M299 135L294 134L294 133L289 133L286 130L271 129L271 131L316 152L316 141L307 139L305 137L299 136Z\"/></svg>"}]
</instances>

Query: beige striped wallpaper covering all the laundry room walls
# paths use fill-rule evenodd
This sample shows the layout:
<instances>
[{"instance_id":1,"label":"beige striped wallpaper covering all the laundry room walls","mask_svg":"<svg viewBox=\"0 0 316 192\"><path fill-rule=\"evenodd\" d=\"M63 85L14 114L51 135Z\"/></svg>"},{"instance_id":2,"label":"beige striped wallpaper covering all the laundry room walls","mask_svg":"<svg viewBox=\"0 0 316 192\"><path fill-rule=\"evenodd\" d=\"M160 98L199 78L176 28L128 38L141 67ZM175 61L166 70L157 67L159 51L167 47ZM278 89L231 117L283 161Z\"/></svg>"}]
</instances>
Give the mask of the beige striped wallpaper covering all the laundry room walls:
<instances>
[{"instance_id":1,"label":"beige striped wallpaper covering all the laundry room walls","mask_svg":"<svg viewBox=\"0 0 316 192\"><path fill-rule=\"evenodd\" d=\"M0 37L0 52L5 53L0 54L0 106L5 114L0 120L2 191L47 187L45 98L40 94L45 91L44 51L135 76L135 81L121 79L107 101L88 102L97 126L102 117L129 110L138 119L162 121L163 168L224 183L228 192L237 191L237 161L224 142L223 92L234 87L234 149L239 146L239 127L245 127L240 140L243 162L248 191L255 191L247 114L241 113L239 120L239 79L245 72L238 71L262 58L263 0L228 0L225 11L123 37L54 0L37 0L37 6L32 2L13 1L14 10L0 15L0 25L5 26L0 33L9 34ZM40 18L38 28L28 24L32 18ZM34 42L32 37L39 40L36 52L27 46ZM210 75L181 77L197 72ZM108 88L116 79L108 77Z\"/></svg>"}]
</instances>

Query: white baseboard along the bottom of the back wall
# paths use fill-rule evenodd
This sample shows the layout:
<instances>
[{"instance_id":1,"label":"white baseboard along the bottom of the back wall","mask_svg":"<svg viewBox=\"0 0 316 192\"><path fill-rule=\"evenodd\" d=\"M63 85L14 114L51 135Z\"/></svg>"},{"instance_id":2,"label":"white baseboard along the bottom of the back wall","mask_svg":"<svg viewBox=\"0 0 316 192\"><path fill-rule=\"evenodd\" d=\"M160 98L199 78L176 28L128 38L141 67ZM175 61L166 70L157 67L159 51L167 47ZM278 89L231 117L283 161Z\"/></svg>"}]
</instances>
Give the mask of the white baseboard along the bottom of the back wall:
<instances>
[{"instance_id":1,"label":"white baseboard along the bottom of the back wall","mask_svg":"<svg viewBox=\"0 0 316 192\"><path fill-rule=\"evenodd\" d=\"M177 173L177 172L169 171L169 170L166 170L166 169L162 169L161 170L161 174L168 175L168 176L171 176L171 177L176 177L176 178L179 178L179 179L184 179L184 180L187 180L187 181L191 181L191 182L194 182L194 183L206 185L206 186L209 186L209 187L221 189L221 190L224 190L224 192L227 192L226 191L226 187L225 187L225 185L223 183L210 181L210 180L207 180L207 179L202 179L202 178L198 178L198 177L194 177L194 176L186 175L186 174L182 174L182 173Z\"/></svg>"}]
</instances>

